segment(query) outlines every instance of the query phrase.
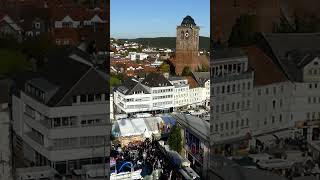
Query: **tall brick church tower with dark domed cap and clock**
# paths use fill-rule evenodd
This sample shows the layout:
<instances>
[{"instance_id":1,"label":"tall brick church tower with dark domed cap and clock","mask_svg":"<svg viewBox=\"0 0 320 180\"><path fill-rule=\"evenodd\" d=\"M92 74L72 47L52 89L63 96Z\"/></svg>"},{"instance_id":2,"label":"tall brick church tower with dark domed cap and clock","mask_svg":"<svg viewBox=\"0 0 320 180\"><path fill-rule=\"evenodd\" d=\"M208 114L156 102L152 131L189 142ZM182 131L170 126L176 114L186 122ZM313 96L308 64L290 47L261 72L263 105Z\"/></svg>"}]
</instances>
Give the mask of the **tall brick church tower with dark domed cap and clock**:
<instances>
[{"instance_id":1,"label":"tall brick church tower with dark domed cap and clock","mask_svg":"<svg viewBox=\"0 0 320 180\"><path fill-rule=\"evenodd\" d=\"M184 68L196 71L199 66L199 26L191 16L186 16L177 26L176 52L174 58L175 73L181 75Z\"/></svg>"}]
</instances>

